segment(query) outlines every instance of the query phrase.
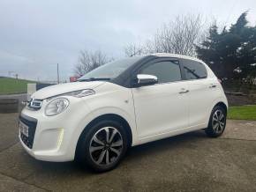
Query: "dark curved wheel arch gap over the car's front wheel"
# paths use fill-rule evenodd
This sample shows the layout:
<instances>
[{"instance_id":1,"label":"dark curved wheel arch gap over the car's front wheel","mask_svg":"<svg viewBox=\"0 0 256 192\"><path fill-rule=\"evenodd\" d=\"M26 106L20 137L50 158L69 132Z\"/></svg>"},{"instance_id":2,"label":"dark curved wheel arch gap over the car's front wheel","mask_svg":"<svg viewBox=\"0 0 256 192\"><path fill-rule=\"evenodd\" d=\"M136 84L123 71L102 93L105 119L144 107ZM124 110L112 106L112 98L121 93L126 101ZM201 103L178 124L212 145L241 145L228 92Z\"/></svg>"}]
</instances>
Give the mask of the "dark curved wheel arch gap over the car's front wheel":
<instances>
[{"instance_id":1,"label":"dark curved wheel arch gap over the car's front wheel","mask_svg":"<svg viewBox=\"0 0 256 192\"><path fill-rule=\"evenodd\" d=\"M127 136L128 136L129 147L132 146L132 129L131 129L131 126L129 125L129 123L124 119L124 117L120 116L119 114L102 114L102 115L94 118L94 120L92 120L91 122L89 122L87 124L87 126L83 129L81 134L79 135L79 139L76 144L75 157L77 157L77 155L78 155L77 151L79 150L80 142L82 140L82 137L86 134L87 129L90 129L90 127L94 126L94 124L101 122L103 120L112 120L112 121L117 121L117 122L120 122L121 124L123 124L124 130L126 131Z\"/></svg>"}]
</instances>

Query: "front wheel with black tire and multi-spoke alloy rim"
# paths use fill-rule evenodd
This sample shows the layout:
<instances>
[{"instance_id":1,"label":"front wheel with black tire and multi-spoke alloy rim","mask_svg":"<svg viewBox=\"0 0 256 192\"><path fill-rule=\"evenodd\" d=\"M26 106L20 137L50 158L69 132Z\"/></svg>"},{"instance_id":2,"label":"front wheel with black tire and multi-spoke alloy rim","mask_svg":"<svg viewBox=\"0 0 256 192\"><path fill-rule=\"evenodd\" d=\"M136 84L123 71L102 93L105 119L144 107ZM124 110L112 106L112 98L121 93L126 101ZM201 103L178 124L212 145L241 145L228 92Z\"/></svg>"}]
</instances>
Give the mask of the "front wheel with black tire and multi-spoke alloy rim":
<instances>
[{"instance_id":1,"label":"front wheel with black tire and multi-spoke alloy rim","mask_svg":"<svg viewBox=\"0 0 256 192\"><path fill-rule=\"evenodd\" d=\"M120 122L98 122L85 129L81 135L77 160L82 166L89 167L95 172L112 170L124 158L128 148L127 138L124 126Z\"/></svg>"}]
</instances>

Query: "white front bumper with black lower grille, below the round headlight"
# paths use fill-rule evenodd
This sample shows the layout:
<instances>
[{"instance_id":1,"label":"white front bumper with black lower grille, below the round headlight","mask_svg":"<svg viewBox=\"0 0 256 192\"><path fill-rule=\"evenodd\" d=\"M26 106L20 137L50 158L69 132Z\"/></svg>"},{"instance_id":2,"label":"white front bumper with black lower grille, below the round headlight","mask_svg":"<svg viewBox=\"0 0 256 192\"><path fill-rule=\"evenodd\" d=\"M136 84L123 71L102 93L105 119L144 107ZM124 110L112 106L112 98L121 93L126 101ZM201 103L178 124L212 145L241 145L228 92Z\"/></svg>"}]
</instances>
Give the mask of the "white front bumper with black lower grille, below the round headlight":
<instances>
[{"instance_id":1,"label":"white front bumper with black lower grille, below the round headlight","mask_svg":"<svg viewBox=\"0 0 256 192\"><path fill-rule=\"evenodd\" d=\"M74 104L55 116L46 116L42 109L33 111L25 107L19 121L26 124L29 134L24 137L19 131L20 143L35 159L71 161L75 157L80 132L85 128L81 113L83 117L89 114L85 103Z\"/></svg>"}]
</instances>

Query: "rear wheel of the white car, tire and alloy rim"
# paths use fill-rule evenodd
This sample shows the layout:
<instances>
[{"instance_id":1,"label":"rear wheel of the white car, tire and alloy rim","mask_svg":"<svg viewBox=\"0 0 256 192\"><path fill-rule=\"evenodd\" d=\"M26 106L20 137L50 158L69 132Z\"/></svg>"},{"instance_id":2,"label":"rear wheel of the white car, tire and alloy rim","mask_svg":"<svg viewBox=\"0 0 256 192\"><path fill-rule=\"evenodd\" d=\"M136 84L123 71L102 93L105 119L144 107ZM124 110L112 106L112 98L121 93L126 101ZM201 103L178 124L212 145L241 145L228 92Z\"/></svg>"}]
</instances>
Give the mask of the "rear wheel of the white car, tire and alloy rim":
<instances>
[{"instance_id":1,"label":"rear wheel of the white car, tire and alloy rim","mask_svg":"<svg viewBox=\"0 0 256 192\"><path fill-rule=\"evenodd\" d=\"M227 112L221 106L215 106L210 115L208 127L205 129L208 137L220 137L226 128Z\"/></svg>"}]
</instances>

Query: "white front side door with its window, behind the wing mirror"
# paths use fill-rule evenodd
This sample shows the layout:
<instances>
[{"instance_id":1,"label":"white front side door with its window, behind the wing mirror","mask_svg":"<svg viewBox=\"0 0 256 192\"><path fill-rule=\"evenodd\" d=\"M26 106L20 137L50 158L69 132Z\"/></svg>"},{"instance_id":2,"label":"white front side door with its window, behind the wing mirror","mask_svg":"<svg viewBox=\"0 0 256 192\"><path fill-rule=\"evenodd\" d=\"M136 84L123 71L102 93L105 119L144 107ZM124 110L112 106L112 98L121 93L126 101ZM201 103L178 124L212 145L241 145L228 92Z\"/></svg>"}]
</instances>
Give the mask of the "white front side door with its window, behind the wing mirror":
<instances>
[{"instance_id":1,"label":"white front side door with its window, behind the wing mirror","mask_svg":"<svg viewBox=\"0 0 256 192\"><path fill-rule=\"evenodd\" d=\"M132 88L139 137L151 137L186 128L187 83L183 81L179 61L156 59L144 65L137 74L158 78L158 84Z\"/></svg>"}]
</instances>

